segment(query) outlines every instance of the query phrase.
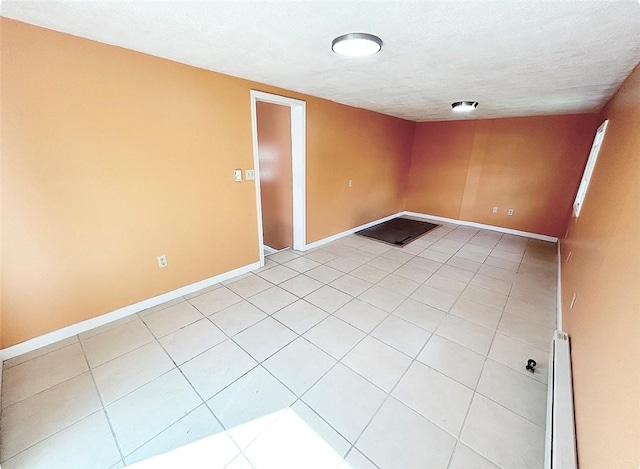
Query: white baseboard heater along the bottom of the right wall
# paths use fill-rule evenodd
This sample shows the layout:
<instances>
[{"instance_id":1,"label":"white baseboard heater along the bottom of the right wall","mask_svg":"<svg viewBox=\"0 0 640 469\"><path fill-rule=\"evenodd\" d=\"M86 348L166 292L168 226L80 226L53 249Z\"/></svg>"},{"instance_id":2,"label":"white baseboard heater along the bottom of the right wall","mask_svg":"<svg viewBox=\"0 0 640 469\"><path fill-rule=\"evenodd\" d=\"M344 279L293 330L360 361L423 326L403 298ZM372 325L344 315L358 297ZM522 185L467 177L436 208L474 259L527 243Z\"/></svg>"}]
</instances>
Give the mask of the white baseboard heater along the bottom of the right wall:
<instances>
[{"instance_id":1,"label":"white baseboard heater along the bottom of the right wall","mask_svg":"<svg viewBox=\"0 0 640 469\"><path fill-rule=\"evenodd\" d=\"M549 356L545 469L578 467L569 336L555 331Z\"/></svg>"}]
</instances>

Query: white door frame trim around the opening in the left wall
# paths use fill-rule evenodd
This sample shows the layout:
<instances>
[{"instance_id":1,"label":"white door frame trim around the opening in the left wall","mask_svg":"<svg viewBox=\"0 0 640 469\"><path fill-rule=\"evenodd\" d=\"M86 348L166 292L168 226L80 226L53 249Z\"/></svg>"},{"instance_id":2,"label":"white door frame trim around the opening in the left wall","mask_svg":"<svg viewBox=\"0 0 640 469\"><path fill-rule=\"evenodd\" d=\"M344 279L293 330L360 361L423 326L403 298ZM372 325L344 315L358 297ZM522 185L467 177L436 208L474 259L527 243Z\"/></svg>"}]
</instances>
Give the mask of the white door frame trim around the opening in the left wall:
<instances>
[{"instance_id":1,"label":"white door frame trim around the opening in the left wall","mask_svg":"<svg viewBox=\"0 0 640 469\"><path fill-rule=\"evenodd\" d=\"M263 91L251 90L251 129L253 134L253 168L256 174L256 204L258 212L258 243L260 264L264 265L264 233L262 226L262 197L260 194L260 160L258 158L258 121L256 102L281 104L291 109L291 173L293 186L293 249L306 249L306 119L307 103Z\"/></svg>"}]
</instances>

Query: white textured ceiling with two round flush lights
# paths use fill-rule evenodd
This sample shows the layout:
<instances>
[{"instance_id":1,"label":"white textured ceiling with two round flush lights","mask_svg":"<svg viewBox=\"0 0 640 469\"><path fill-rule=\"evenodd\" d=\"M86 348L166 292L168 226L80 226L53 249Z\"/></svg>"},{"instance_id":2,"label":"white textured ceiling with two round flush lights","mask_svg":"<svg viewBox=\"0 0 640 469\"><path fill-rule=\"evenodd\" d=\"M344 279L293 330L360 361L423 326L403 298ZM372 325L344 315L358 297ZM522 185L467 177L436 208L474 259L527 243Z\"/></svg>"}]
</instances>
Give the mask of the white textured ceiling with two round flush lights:
<instances>
[{"instance_id":1,"label":"white textured ceiling with two round flush lights","mask_svg":"<svg viewBox=\"0 0 640 469\"><path fill-rule=\"evenodd\" d=\"M638 0L5 0L1 14L414 121L598 111L640 61ZM368 58L331 40L369 32Z\"/></svg>"}]
</instances>

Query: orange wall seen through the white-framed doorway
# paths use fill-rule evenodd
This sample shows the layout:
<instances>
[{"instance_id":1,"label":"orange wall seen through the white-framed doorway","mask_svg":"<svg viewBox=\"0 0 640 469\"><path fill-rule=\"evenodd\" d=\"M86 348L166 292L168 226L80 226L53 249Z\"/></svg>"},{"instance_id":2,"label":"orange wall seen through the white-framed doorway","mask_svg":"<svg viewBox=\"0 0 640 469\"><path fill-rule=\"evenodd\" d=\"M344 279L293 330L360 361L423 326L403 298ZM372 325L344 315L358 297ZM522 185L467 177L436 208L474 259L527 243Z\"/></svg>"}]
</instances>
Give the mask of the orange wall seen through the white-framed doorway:
<instances>
[{"instance_id":1,"label":"orange wall seen through the white-framed doorway","mask_svg":"<svg viewBox=\"0 0 640 469\"><path fill-rule=\"evenodd\" d=\"M258 101L256 117L264 243L284 249L293 246L291 109Z\"/></svg>"}]
</instances>

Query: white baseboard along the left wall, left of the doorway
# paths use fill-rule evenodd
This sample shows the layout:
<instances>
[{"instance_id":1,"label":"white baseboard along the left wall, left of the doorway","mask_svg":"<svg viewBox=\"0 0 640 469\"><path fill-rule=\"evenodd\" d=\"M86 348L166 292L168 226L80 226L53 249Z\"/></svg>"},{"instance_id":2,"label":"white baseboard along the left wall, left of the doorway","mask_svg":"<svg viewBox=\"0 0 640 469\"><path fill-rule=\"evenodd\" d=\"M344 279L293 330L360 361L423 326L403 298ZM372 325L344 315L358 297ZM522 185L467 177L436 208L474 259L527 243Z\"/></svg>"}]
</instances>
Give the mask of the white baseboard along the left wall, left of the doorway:
<instances>
[{"instance_id":1,"label":"white baseboard along the left wall, left of the doorway","mask_svg":"<svg viewBox=\"0 0 640 469\"><path fill-rule=\"evenodd\" d=\"M111 311L110 313L101 314L100 316L96 316L95 318L87 319L85 321L63 327L47 334L34 337L33 339L29 339L25 342L21 342L19 344L0 350L0 360L8 360L9 358L22 355L23 353L31 352L32 350L36 350L60 340L73 337L74 335L89 331L98 326L108 324L118 319L122 319L126 316L139 313L140 311L144 311L145 309L151 308L153 306L166 303L167 301L171 301L175 298L179 298L181 296L188 295L189 293L194 293L198 290L202 290L203 288L210 287L212 285L215 285L216 283L224 282L225 280L229 280L239 275L246 274L247 272L251 272L252 270L258 269L259 267L260 262L254 262L253 264L248 264L243 267L230 270L229 272L224 272L214 277L192 283L191 285L177 288L170 292L163 293L162 295L154 296L153 298L149 298L147 300L143 300L138 303L116 309L115 311Z\"/></svg>"}]
</instances>

